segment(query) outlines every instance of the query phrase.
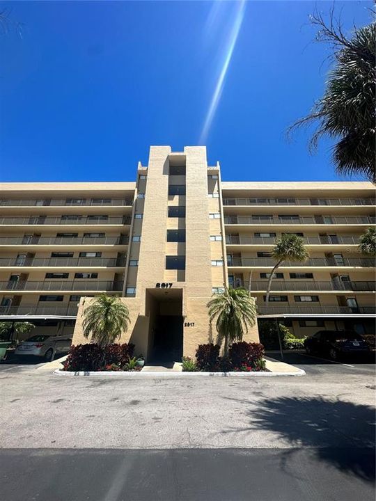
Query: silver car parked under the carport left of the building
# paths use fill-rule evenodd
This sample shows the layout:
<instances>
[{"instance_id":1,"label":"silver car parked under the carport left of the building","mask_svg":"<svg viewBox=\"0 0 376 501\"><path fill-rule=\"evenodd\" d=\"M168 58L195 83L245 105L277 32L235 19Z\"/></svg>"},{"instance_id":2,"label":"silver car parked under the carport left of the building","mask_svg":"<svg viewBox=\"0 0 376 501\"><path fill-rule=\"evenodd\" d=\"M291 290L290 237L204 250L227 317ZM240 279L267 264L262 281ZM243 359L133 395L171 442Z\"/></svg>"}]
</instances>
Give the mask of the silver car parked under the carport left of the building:
<instances>
[{"instance_id":1,"label":"silver car parked under the carport left of the building","mask_svg":"<svg viewBox=\"0 0 376 501\"><path fill-rule=\"evenodd\" d=\"M19 344L15 355L33 355L54 360L56 353L66 353L71 344L72 335L37 334Z\"/></svg>"}]
</instances>

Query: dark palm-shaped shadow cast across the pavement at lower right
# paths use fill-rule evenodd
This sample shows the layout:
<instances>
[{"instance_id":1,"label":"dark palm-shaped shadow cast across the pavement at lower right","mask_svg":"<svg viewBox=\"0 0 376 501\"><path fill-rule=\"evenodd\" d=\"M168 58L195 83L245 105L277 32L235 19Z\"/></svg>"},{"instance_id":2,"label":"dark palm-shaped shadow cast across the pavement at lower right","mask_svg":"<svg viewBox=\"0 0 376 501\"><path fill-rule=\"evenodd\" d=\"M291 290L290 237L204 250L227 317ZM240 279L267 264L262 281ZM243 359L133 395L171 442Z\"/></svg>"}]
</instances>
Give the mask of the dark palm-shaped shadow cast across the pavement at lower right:
<instances>
[{"instance_id":1,"label":"dark palm-shaped shadow cast across the pavement at lower right","mask_svg":"<svg viewBox=\"0 0 376 501\"><path fill-rule=\"evenodd\" d=\"M338 470L375 481L373 407L322 397L278 397L249 404L249 427L224 433L271 431L291 447L309 448ZM289 454L291 450L286 450L285 462Z\"/></svg>"}]
</instances>

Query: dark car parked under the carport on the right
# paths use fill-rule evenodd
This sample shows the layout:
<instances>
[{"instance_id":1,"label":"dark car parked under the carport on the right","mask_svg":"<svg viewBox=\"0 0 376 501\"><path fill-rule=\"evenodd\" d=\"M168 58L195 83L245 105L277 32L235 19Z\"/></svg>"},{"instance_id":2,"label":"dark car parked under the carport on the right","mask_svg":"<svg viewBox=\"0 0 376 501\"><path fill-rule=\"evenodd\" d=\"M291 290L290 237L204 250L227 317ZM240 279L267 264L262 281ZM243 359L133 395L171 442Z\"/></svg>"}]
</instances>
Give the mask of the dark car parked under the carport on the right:
<instances>
[{"instance_id":1,"label":"dark car parked under the carport on the right","mask_svg":"<svg viewBox=\"0 0 376 501\"><path fill-rule=\"evenodd\" d=\"M304 341L306 353L318 353L337 360L340 356L370 352L368 344L354 331L319 331Z\"/></svg>"}]
</instances>

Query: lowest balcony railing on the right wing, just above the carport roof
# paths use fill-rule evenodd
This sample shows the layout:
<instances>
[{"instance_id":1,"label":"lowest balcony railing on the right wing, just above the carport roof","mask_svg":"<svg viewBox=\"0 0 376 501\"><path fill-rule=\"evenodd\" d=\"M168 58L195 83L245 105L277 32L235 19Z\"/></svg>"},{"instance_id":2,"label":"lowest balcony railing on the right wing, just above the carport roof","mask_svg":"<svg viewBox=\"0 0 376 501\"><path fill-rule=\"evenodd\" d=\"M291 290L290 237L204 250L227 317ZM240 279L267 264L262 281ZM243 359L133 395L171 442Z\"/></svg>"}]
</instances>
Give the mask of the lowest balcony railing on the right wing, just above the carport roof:
<instances>
[{"instance_id":1,"label":"lowest balcony railing on the right wing, just above the carport roof","mask_svg":"<svg viewBox=\"0 0 376 501\"><path fill-rule=\"evenodd\" d=\"M317 304L317 303L316 303ZM258 315L285 315L287 313L295 313L301 315L309 315L309 314L318 314L324 313L327 315L349 315L349 314L372 314L376 312L375 306L359 306L358 308L350 308L350 306L295 306L288 303L285 305L274 306L274 305L259 305L258 306Z\"/></svg>"}]
</instances>

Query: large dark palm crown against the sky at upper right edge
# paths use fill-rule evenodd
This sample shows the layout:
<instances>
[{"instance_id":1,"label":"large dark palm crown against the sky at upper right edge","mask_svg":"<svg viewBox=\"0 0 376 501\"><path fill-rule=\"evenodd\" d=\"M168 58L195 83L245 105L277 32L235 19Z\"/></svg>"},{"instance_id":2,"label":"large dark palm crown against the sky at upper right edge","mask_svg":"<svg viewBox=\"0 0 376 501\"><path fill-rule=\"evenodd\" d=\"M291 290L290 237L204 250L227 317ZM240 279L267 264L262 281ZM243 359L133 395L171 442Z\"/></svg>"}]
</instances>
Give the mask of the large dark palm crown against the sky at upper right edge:
<instances>
[{"instance_id":1,"label":"large dark palm crown against the sky at upper right edge","mask_svg":"<svg viewBox=\"0 0 376 501\"><path fill-rule=\"evenodd\" d=\"M315 150L322 136L336 139L332 159L337 173L361 175L375 183L376 23L355 29L349 38L334 20L333 10L329 23L318 13L311 22L318 26L317 40L331 46L335 65L324 95L288 133L301 125L318 124L310 149Z\"/></svg>"}]
</instances>

